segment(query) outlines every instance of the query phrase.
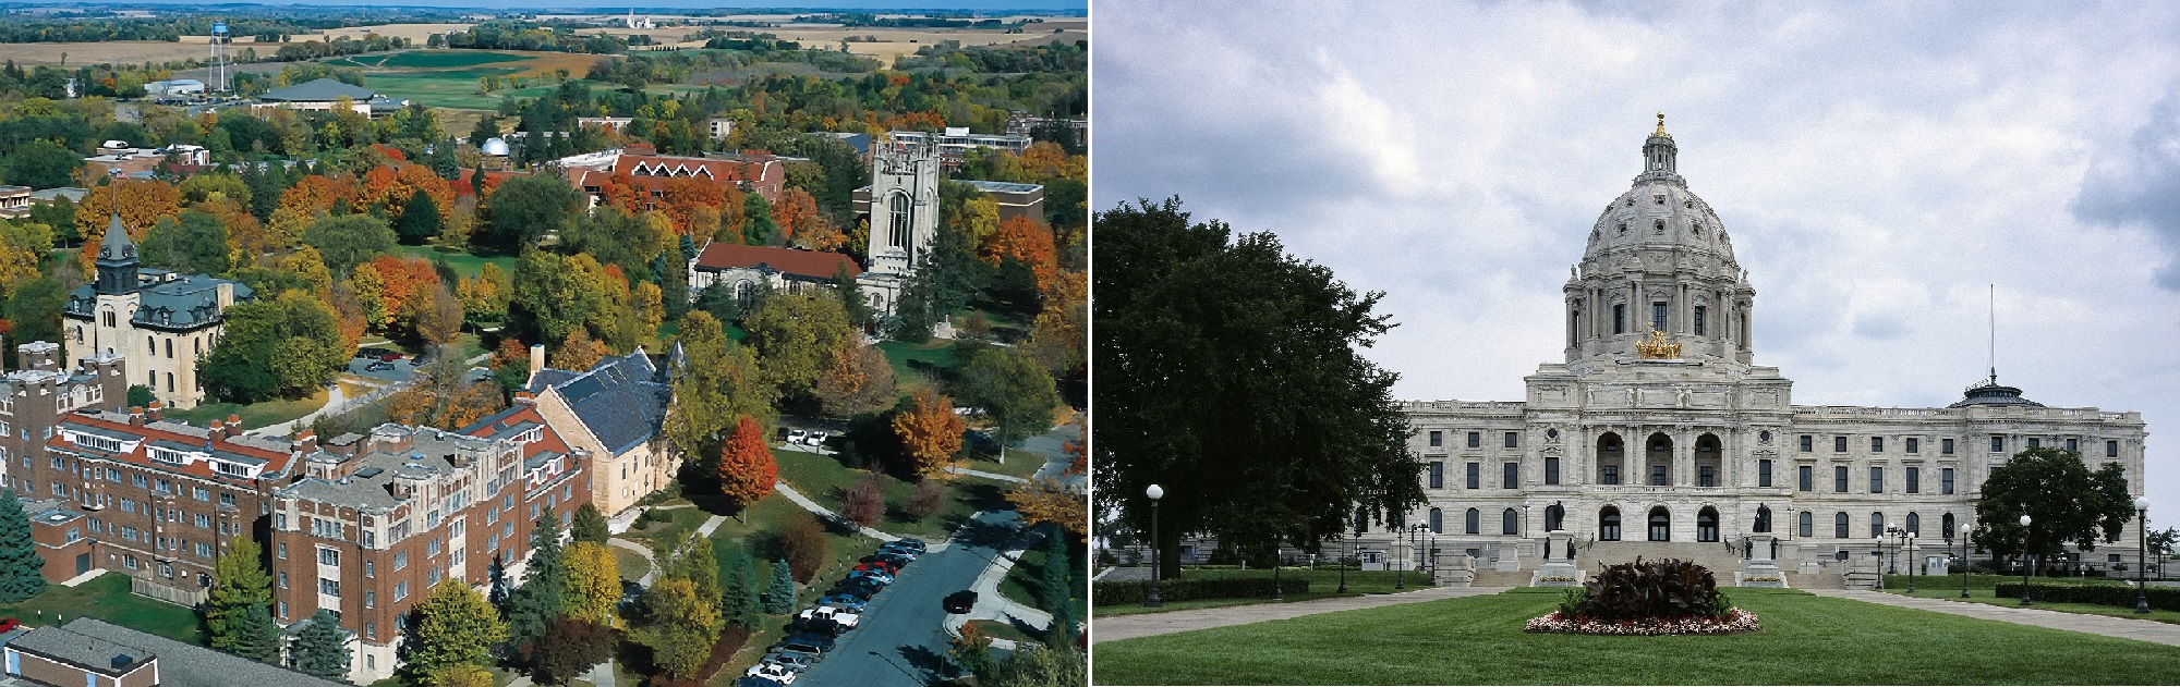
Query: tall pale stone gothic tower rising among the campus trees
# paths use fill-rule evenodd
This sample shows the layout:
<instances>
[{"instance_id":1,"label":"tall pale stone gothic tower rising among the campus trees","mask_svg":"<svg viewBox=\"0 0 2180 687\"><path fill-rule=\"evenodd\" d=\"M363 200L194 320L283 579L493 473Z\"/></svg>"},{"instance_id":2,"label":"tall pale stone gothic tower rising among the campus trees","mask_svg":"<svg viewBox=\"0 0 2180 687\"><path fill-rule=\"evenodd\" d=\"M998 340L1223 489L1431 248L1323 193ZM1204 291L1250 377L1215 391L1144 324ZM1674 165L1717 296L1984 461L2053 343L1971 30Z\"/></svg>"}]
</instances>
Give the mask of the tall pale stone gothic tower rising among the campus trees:
<instances>
[{"instance_id":1,"label":"tall pale stone gothic tower rising among the campus trees","mask_svg":"<svg viewBox=\"0 0 2180 687\"><path fill-rule=\"evenodd\" d=\"M907 276L940 228L940 157L931 143L876 146L870 154L870 272Z\"/></svg>"}]
</instances>

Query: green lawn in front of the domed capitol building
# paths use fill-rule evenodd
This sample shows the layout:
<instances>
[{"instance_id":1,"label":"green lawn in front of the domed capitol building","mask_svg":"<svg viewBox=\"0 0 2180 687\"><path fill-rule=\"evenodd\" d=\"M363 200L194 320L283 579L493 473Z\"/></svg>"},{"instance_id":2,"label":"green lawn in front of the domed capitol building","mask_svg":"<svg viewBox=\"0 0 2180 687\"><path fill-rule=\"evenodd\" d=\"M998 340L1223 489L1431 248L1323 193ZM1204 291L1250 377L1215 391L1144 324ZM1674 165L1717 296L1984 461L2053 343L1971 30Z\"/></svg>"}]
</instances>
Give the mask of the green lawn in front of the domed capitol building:
<instances>
[{"instance_id":1,"label":"green lawn in front of the domed capitol building","mask_svg":"<svg viewBox=\"0 0 2180 687\"><path fill-rule=\"evenodd\" d=\"M2173 646L1792 589L1729 596L1764 630L1528 635L1559 589L1513 589L1105 641L1092 670L1099 685L2180 685Z\"/></svg>"}]
</instances>

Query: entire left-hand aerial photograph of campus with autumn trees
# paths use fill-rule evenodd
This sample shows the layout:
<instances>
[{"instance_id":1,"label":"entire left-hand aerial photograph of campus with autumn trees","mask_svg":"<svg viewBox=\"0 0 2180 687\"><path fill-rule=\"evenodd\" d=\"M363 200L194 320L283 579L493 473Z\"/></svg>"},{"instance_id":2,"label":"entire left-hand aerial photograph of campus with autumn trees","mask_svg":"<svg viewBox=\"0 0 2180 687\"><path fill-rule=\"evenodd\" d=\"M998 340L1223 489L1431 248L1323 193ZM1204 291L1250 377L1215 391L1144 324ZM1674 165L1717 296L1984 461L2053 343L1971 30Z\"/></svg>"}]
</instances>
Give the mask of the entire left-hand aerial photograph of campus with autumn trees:
<instances>
[{"instance_id":1,"label":"entire left-hand aerial photograph of campus with autumn trees","mask_svg":"<svg viewBox=\"0 0 2180 687\"><path fill-rule=\"evenodd\" d=\"M0 683L1083 685L1020 4L0 7Z\"/></svg>"}]
</instances>

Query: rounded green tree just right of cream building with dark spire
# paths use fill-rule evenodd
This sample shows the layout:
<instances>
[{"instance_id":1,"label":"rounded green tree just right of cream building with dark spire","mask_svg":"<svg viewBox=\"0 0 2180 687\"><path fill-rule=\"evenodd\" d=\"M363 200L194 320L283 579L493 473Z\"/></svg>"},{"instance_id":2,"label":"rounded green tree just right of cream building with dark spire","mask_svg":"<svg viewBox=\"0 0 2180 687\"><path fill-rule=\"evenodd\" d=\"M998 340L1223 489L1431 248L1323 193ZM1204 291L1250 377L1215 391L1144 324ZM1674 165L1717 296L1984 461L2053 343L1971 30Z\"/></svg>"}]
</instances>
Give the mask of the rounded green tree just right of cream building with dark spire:
<instances>
[{"instance_id":1,"label":"rounded green tree just right of cream building with dark spire","mask_svg":"<svg viewBox=\"0 0 2180 687\"><path fill-rule=\"evenodd\" d=\"M196 363L205 387L225 400L299 398L323 389L349 361L340 320L303 291L227 309L227 328Z\"/></svg>"}]
</instances>

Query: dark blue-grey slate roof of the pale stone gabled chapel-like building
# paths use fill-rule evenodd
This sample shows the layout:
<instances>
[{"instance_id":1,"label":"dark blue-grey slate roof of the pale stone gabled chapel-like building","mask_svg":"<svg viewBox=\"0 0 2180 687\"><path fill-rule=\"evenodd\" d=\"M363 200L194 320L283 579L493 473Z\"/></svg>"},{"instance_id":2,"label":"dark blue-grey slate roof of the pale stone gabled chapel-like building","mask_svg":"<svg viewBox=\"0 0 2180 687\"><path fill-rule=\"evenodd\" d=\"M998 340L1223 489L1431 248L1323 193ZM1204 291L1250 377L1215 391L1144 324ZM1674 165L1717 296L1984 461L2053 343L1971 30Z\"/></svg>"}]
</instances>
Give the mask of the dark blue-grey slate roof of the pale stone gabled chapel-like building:
<instances>
[{"instance_id":1,"label":"dark blue-grey slate roof of the pale stone gabled chapel-like building","mask_svg":"<svg viewBox=\"0 0 2180 687\"><path fill-rule=\"evenodd\" d=\"M656 437L667 420L667 400L674 398L674 389L663 383L658 367L641 348L597 361L582 374L541 370L530 378L530 389L558 394L576 420L615 457Z\"/></svg>"}]
</instances>

